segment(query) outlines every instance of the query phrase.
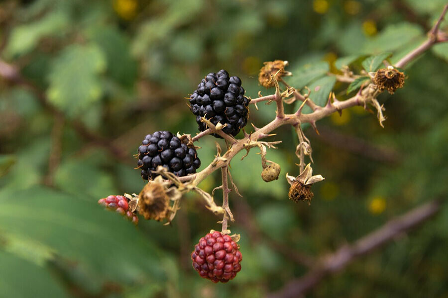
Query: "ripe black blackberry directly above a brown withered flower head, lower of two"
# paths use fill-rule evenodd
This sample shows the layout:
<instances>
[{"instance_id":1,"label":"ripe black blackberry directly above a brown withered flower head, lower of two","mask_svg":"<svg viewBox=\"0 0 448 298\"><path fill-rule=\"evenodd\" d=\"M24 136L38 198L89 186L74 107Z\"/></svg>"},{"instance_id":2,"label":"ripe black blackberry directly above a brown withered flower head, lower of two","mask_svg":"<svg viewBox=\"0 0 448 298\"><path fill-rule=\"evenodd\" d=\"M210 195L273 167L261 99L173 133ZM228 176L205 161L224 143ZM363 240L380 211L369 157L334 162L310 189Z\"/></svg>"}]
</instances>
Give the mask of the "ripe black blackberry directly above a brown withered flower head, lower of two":
<instances>
[{"instance_id":1,"label":"ripe black blackberry directly above a brown withered flower head, lower of two","mask_svg":"<svg viewBox=\"0 0 448 298\"><path fill-rule=\"evenodd\" d=\"M195 148L189 148L168 131L147 135L138 147L137 167L141 169L144 180L154 179L157 174L152 171L162 165L177 176L196 173L201 160Z\"/></svg>"}]
</instances>

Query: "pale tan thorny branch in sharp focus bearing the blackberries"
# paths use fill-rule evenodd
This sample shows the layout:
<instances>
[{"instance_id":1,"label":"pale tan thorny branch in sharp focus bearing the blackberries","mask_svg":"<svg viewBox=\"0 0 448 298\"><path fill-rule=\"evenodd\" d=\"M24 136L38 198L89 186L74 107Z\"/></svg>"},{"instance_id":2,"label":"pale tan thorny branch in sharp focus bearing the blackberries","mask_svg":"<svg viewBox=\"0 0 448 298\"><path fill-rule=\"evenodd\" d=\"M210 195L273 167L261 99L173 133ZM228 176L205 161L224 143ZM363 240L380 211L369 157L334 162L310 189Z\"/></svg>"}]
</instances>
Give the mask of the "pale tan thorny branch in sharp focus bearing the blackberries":
<instances>
[{"instance_id":1,"label":"pale tan thorny branch in sharp focus bearing the blackberries","mask_svg":"<svg viewBox=\"0 0 448 298\"><path fill-rule=\"evenodd\" d=\"M448 10L448 4L444 7L444 10L443 10L441 16L439 17L438 21L433 26L431 31L428 33L428 36L429 36L428 40L426 42L424 42L422 45L420 45L419 47L417 47L416 49L412 50L408 55L406 55L404 58L402 58L399 62L397 62L395 67L403 68L410 61L414 60L416 57L418 57L424 51L431 48L431 46L433 46L434 44L448 41L448 39L440 38L441 34L439 32L440 23L442 22L443 18L445 17L447 10ZM351 76L352 76L352 74L350 74L349 76L346 76L344 78L337 77L337 79L342 80L342 81L345 80L346 82L350 82L350 81L352 81ZM214 171L216 171L219 168L225 168L226 169L225 172L227 172L227 170L228 170L227 167L228 167L230 161L239 151L241 151L242 149L248 149L248 148L250 149L251 147L258 146L257 144L260 142L259 140L269 137L269 136L272 136L272 135L270 135L270 133L283 125L291 125L297 131L298 138L299 138L299 148L297 149L297 152L298 152L298 156L300 159L299 165L300 165L301 171L303 170L303 167L305 165L305 161L304 161L305 156L304 155L310 155L310 159L311 159L311 146L310 146L309 140L305 137L305 135L303 134L303 132L300 129L300 127L303 123L310 123L311 126L315 129L316 133L319 134L317 127L316 127L316 122L318 120L320 120L324 117L327 117L335 112L341 113L341 111L346 108L350 108L353 106L363 106L366 109L367 104L371 104L372 106L374 106L376 108L378 121L379 121L380 125L383 126L382 122L385 120L385 117L383 116L382 112L384 110L384 107L383 107L383 105L380 105L376 99L376 97L381 92L377 89L377 86L374 83L370 83L369 85L367 85L364 88L361 87L361 89L358 91L358 93L355 96L353 96L349 99L346 99L344 101L337 100L335 94L331 93L327 104L325 106L321 107L321 106L316 105L311 100L311 98L310 98L311 90L308 89L308 93L305 95L302 95L296 89L292 88L286 82L284 82L281 78L279 78L279 81L282 82L288 88L287 91L281 92L278 81L274 78L274 76L271 76L271 79L273 79L273 81L275 83L275 87L276 87L275 94L261 96L261 94L259 92L259 94L258 94L259 97L251 99L250 103L254 104L256 107L257 103L260 103L263 101L267 102L267 104L275 101L276 105L277 105L275 119L272 120L270 123L266 124L262 128L256 128L255 126L252 125L254 127L255 131L250 134L245 133L244 138L239 139L239 140L236 140L233 137L226 135L220 128L217 129L216 127L214 127L213 124L209 125L209 123L207 123L210 128L208 130L206 130L205 132L200 133L196 137L194 137L193 141L197 141L207 134L219 132L219 135L221 137L223 137L227 141L227 143L230 144L230 146L228 147L227 151L222 156L220 154L218 154L219 156L217 156L217 158L215 158L213 160L213 162L210 163L205 169L196 173L194 176L192 175L191 178L190 177L186 178L186 180L188 180L187 184L189 183L193 186L196 186L201 181L203 181L207 176L209 176L210 174L212 174ZM284 98L285 95L286 95L286 98ZM289 97L289 95L293 95L294 98L293 99L287 98L287 97ZM295 100L302 101L301 107L294 114L285 114L283 102L292 103ZM305 104L307 104L308 106L311 107L311 109L313 110L312 113L302 114L302 107ZM204 121L207 122L206 119L204 119ZM248 145L251 145L251 146L248 147ZM309 154L307 154L307 149L309 149ZM223 182L224 182L224 174L223 174ZM224 183L223 183L223 187L224 187ZM223 192L223 193L224 193L223 201L228 203L228 193L225 193L225 192ZM228 209L228 206L226 206L226 207ZM223 206L223 208L224 208L224 206ZM225 226L225 228L224 228L224 226ZM227 221L225 220L225 215L224 215L223 229L226 229L226 227L227 227Z\"/></svg>"}]
</instances>

